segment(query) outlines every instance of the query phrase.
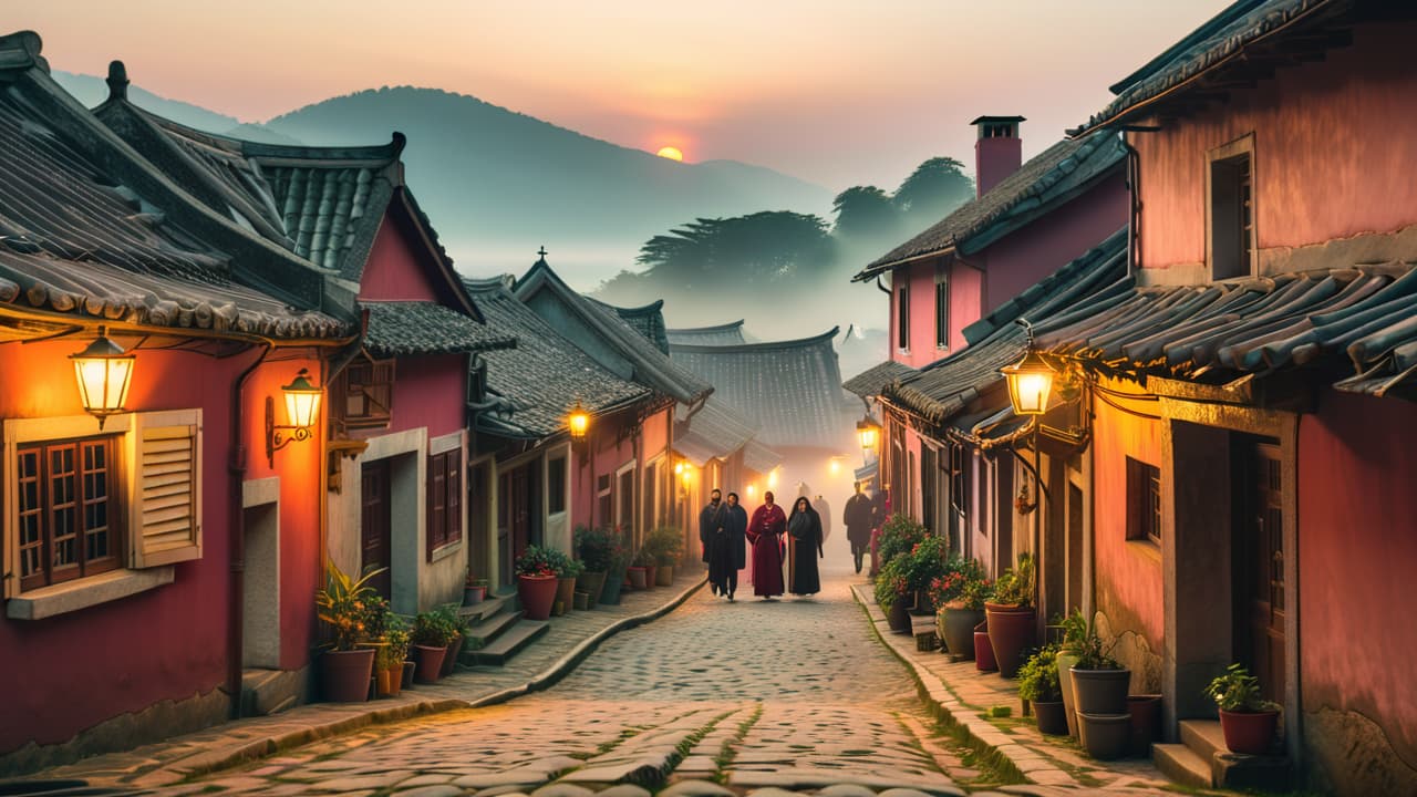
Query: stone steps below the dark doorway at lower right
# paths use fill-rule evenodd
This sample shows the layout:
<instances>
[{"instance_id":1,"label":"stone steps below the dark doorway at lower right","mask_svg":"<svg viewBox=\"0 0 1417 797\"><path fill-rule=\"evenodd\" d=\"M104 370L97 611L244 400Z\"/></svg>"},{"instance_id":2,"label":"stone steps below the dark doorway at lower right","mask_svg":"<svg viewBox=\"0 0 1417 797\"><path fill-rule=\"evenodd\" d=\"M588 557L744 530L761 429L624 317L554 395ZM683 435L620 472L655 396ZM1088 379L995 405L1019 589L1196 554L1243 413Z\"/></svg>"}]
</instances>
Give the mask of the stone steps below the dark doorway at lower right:
<instances>
[{"instance_id":1,"label":"stone steps below the dark doorway at lower right","mask_svg":"<svg viewBox=\"0 0 1417 797\"><path fill-rule=\"evenodd\" d=\"M1285 791L1289 786L1288 759L1231 753L1214 719L1180 720L1180 743L1152 745L1152 762L1166 777L1196 788Z\"/></svg>"}]
</instances>

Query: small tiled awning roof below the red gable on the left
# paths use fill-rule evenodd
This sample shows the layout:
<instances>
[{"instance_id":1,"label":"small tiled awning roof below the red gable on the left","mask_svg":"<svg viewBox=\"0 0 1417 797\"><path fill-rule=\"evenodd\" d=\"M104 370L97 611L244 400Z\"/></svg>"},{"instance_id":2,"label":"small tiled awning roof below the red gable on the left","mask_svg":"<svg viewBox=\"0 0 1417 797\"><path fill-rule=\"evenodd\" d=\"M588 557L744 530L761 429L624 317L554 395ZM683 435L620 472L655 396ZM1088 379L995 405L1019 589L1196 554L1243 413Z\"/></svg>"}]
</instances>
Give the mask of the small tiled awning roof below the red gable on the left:
<instances>
[{"instance_id":1,"label":"small tiled awning roof below the red gable on the left","mask_svg":"<svg viewBox=\"0 0 1417 797\"><path fill-rule=\"evenodd\" d=\"M452 308L436 302L360 302L368 311L364 347L376 357L455 355L512 349L516 339L499 335Z\"/></svg>"}]
</instances>

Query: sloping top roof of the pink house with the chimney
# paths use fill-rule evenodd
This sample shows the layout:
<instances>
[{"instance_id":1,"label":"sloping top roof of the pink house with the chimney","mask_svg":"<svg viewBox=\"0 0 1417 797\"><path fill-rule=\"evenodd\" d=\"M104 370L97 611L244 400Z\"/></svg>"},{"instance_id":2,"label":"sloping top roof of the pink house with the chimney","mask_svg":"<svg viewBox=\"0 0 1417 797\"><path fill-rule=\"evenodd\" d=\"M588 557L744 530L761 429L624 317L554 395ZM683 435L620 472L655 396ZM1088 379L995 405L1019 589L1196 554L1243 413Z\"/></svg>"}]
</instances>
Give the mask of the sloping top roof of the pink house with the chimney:
<instances>
[{"instance_id":1,"label":"sloping top roof of the pink house with the chimney","mask_svg":"<svg viewBox=\"0 0 1417 797\"><path fill-rule=\"evenodd\" d=\"M862 282L904 261L959 250L971 254L1077 197L1121 167L1127 150L1115 133L1061 140L1020 166L982 197L896 247L852 279Z\"/></svg>"}]
</instances>

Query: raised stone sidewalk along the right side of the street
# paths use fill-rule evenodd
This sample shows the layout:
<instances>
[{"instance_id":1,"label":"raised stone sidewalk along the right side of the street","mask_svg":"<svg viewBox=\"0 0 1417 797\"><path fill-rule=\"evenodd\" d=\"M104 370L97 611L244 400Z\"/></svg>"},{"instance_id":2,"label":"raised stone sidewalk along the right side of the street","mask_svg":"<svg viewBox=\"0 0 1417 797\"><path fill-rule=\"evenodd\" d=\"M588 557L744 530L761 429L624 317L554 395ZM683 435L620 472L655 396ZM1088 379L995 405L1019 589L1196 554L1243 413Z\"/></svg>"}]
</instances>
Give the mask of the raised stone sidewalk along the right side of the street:
<instances>
[{"instance_id":1,"label":"raised stone sidewalk along the right side of the street","mask_svg":"<svg viewBox=\"0 0 1417 797\"><path fill-rule=\"evenodd\" d=\"M857 584L853 591L881 641L914 671L921 698L932 712L962 729L975 749L992 756L998 766L1010 767L1030 781L1003 791L1040 797L1078 790L1156 794L1172 787L1149 759L1098 762L1070 737L1043 736L1032 719L1019 718L1017 681L981 672L973 661L951 662L939 651L917 651L913 637L891 632L870 584ZM1010 716L988 716L995 706L1009 708Z\"/></svg>"}]
</instances>

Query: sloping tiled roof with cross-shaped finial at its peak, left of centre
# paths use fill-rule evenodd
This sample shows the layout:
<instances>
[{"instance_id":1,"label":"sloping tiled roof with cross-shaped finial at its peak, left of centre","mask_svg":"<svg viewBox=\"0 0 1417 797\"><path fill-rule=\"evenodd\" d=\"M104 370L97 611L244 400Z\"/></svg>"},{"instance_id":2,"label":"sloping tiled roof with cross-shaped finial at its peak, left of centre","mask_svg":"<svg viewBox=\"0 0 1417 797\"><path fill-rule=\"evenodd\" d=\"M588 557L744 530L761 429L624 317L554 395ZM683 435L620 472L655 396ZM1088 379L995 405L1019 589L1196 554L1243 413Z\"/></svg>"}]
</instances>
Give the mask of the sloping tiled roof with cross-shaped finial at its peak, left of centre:
<instances>
[{"instance_id":1,"label":"sloping tiled roof with cross-shaped finial at its peak, left of centre","mask_svg":"<svg viewBox=\"0 0 1417 797\"><path fill-rule=\"evenodd\" d=\"M618 312L572 291L551 269L546 258L531 265L531 269L517 281L514 292L534 311L538 306L544 308L541 303L544 292L558 305L560 311L555 313L572 315L595 336L595 342L584 342L582 350L621 379L636 381L684 404L693 404L713 393L713 384L673 363L659 346L621 319ZM541 312L555 315L551 311ZM571 339L578 345L582 343L577 338Z\"/></svg>"}]
</instances>

